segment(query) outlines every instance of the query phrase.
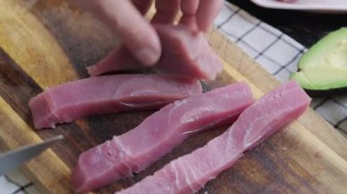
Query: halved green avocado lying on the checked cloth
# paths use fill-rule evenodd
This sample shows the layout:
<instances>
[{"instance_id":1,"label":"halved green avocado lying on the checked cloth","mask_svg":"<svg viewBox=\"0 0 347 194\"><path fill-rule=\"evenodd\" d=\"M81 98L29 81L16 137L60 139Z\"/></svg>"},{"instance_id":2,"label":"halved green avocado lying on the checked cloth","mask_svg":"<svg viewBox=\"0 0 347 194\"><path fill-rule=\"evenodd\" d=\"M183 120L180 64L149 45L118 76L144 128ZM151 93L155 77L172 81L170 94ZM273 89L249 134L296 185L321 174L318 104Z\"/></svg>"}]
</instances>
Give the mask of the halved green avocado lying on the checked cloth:
<instances>
[{"instance_id":1,"label":"halved green avocado lying on the checked cloth","mask_svg":"<svg viewBox=\"0 0 347 194\"><path fill-rule=\"evenodd\" d=\"M347 27L321 38L301 56L299 71L290 79L311 96L330 96L347 91Z\"/></svg>"}]
</instances>

